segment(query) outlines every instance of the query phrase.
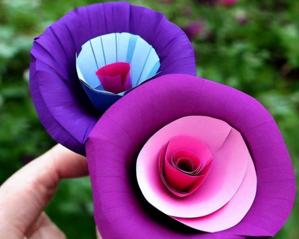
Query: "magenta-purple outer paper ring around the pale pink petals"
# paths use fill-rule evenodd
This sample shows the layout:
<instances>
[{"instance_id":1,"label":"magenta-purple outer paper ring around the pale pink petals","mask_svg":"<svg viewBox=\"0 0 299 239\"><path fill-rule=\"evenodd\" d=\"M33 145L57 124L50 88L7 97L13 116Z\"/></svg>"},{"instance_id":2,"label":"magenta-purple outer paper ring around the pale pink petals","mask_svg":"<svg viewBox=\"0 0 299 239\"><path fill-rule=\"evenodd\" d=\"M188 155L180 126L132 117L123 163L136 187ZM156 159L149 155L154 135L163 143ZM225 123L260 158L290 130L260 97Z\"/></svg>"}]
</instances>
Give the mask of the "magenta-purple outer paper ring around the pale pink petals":
<instances>
[{"instance_id":1,"label":"magenta-purple outer paper ring around the pale pink petals","mask_svg":"<svg viewBox=\"0 0 299 239\"><path fill-rule=\"evenodd\" d=\"M145 202L136 183L135 161L144 143L163 126L190 115L228 122L242 134L254 160L258 183L254 203L239 224L222 232L189 229L184 234ZM194 76L166 75L131 91L103 114L86 148L94 216L103 239L274 236L295 198L292 163L268 111L251 96Z\"/></svg>"}]
</instances>

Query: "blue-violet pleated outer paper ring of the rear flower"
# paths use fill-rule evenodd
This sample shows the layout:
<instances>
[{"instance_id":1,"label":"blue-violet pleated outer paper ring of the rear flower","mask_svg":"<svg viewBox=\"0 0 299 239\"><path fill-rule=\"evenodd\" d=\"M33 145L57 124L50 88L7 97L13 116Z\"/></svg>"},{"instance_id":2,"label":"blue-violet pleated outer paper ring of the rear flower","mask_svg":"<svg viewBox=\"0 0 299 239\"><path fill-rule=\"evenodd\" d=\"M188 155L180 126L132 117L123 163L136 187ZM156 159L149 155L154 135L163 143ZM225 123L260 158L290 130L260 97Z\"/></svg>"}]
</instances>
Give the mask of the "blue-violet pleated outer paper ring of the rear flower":
<instances>
[{"instance_id":1,"label":"blue-violet pleated outer paper ring of the rear flower","mask_svg":"<svg viewBox=\"0 0 299 239\"><path fill-rule=\"evenodd\" d=\"M191 43L162 13L128 2L108 2L76 8L54 22L34 39L30 90L48 133L79 154L86 154L85 142L102 113L86 95L83 88L88 86L83 84L82 88L78 79L76 53L90 39L123 32L140 36L155 49L161 64L159 75L196 75ZM112 104L115 99L104 95L99 101Z\"/></svg>"}]
</instances>

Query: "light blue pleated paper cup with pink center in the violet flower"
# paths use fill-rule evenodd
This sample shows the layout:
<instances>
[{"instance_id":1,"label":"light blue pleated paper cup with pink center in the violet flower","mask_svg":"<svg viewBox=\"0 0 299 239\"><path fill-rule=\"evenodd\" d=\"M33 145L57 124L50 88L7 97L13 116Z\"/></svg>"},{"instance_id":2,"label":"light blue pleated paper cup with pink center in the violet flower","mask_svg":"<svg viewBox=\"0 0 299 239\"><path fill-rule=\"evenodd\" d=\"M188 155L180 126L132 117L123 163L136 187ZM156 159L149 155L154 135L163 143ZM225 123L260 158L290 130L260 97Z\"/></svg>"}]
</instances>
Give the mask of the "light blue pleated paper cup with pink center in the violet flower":
<instances>
[{"instance_id":1,"label":"light blue pleated paper cup with pink center in the violet flower","mask_svg":"<svg viewBox=\"0 0 299 239\"><path fill-rule=\"evenodd\" d=\"M126 76L132 79L125 81L125 85L117 85L116 82L120 80L117 80L115 71L123 69L126 72L128 69L123 65L125 63L130 67L130 73L126 73ZM118 69L119 67L122 68ZM103 112L128 90L155 76L160 68L160 61L155 49L140 36L126 32L109 33L90 39L82 45L76 68L81 84L94 107ZM99 81L98 73L103 74L103 71L105 74L111 71L113 77L102 76ZM109 84L110 81L114 83ZM103 101L102 98L109 98L111 101Z\"/></svg>"}]
</instances>

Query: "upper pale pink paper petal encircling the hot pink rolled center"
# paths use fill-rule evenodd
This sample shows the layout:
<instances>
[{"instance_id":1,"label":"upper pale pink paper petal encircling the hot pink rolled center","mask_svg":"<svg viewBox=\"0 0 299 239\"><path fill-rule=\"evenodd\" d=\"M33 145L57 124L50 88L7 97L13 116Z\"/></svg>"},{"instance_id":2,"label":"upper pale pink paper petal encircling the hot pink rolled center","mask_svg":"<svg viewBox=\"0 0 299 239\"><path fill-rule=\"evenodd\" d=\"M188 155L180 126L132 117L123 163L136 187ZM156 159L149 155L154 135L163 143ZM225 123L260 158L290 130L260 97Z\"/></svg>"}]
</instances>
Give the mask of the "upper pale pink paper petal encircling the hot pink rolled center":
<instances>
[{"instance_id":1,"label":"upper pale pink paper petal encircling the hot pink rolled center","mask_svg":"<svg viewBox=\"0 0 299 239\"><path fill-rule=\"evenodd\" d=\"M186 197L177 197L165 187L158 167L161 147L176 136L205 142L213 154L207 178ZM141 149L137 180L144 197L161 212L174 217L201 217L220 209L234 196L244 178L249 155L242 136L226 122L205 116L183 117L159 130Z\"/></svg>"}]
</instances>

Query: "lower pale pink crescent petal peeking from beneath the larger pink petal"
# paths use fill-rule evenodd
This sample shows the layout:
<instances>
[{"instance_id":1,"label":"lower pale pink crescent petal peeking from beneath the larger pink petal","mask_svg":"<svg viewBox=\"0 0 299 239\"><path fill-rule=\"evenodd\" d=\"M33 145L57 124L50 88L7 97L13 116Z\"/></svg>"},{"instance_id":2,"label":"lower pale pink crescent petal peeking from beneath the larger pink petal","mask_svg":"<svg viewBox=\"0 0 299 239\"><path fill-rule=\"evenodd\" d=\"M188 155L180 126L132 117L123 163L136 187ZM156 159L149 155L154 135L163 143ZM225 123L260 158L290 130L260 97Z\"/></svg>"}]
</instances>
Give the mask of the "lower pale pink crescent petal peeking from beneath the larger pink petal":
<instances>
[{"instance_id":1,"label":"lower pale pink crescent petal peeking from beneath the larger pink petal","mask_svg":"<svg viewBox=\"0 0 299 239\"><path fill-rule=\"evenodd\" d=\"M238 191L222 208L204 217L174 219L205 232L218 232L237 225L251 208L257 191L257 175L251 157Z\"/></svg>"}]
</instances>

